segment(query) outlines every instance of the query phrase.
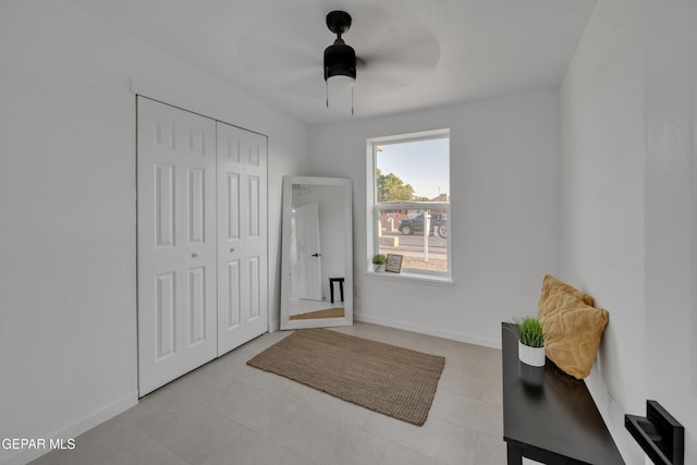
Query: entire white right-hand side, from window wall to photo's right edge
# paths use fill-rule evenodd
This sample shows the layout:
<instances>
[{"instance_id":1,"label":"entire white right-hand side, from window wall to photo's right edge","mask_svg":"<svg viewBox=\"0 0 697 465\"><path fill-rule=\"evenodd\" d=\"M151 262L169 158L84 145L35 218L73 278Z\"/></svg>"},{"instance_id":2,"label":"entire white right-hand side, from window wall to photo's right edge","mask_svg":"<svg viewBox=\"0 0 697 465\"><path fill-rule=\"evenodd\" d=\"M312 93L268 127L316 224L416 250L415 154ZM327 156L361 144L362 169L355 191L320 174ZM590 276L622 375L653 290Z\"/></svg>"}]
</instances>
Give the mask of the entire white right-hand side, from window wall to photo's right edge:
<instances>
[{"instance_id":1,"label":"entire white right-hand side, from window wall to photo's right edge","mask_svg":"<svg viewBox=\"0 0 697 465\"><path fill-rule=\"evenodd\" d=\"M560 278L610 311L588 386L632 464L644 454L623 415L647 399L683 421L697 461L690 3L599 1L561 87Z\"/></svg>"}]
</instances>

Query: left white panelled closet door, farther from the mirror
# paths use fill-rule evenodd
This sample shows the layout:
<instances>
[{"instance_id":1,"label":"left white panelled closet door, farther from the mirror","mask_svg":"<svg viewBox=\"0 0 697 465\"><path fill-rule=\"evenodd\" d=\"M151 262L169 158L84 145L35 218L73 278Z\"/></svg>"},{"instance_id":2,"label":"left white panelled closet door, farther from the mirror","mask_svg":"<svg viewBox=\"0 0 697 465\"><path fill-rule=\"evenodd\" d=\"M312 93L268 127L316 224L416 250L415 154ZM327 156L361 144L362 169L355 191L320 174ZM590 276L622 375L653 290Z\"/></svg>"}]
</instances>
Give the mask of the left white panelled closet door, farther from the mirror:
<instances>
[{"instance_id":1,"label":"left white panelled closet door, farther from the mirror","mask_svg":"<svg viewBox=\"0 0 697 465\"><path fill-rule=\"evenodd\" d=\"M138 98L139 394L215 358L216 123Z\"/></svg>"}]
</instances>

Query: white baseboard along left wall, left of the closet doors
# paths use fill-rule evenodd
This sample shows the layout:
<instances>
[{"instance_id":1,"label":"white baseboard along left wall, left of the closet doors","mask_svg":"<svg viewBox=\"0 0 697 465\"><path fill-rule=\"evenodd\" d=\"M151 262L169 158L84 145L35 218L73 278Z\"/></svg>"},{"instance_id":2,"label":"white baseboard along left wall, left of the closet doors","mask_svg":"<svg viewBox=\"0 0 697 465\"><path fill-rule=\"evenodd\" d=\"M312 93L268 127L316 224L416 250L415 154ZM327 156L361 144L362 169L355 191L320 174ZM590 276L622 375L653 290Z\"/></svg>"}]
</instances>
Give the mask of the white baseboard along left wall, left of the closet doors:
<instances>
[{"instance_id":1,"label":"white baseboard along left wall, left of the closet doors","mask_svg":"<svg viewBox=\"0 0 697 465\"><path fill-rule=\"evenodd\" d=\"M105 406L96 412L93 412L90 415L87 415L71 425L68 425L63 428L60 428L57 431L49 432L47 435L38 436L38 438L45 438L48 443L49 439L71 439L82 435L85 431L90 430L97 425L102 424L109 418L113 418L122 412L127 411L129 408L137 405L138 403L138 391L133 391L129 395L123 399L111 403L110 405ZM51 452L50 449L30 449L23 450L13 453L12 455L8 455L5 457L0 458L0 465L24 465L27 462L30 462L35 458L40 457L44 454Z\"/></svg>"}]
</instances>

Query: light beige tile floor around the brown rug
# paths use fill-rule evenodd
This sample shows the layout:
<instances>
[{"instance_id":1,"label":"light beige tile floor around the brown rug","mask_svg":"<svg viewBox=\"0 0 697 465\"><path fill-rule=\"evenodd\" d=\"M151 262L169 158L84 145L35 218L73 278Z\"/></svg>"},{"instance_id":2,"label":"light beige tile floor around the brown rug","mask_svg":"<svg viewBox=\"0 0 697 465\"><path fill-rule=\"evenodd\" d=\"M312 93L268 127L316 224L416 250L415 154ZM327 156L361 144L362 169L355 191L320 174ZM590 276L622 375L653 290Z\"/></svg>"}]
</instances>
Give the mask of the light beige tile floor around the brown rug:
<instances>
[{"instance_id":1,"label":"light beige tile floor around the brown rug","mask_svg":"<svg viewBox=\"0 0 697 465\"><path fill-rule=\"evenodd\" d=\"M356 322L338 331L445 356L421 427L370 412L246 360L289 335L250 341L142 399L35 465L505 463L501 352Z\"/></svg>"}]
</instances>

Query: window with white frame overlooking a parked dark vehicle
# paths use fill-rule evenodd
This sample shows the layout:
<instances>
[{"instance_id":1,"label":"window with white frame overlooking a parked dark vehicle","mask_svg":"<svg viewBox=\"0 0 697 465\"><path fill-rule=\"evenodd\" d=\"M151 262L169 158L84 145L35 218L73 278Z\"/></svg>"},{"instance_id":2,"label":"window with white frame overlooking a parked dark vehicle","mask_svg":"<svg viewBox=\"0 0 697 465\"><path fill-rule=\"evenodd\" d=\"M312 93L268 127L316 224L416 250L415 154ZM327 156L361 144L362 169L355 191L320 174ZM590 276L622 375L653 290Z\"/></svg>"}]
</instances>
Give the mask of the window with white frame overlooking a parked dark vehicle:
<instances>
[{"instance_id":1,"label":"window with white frame overlooking a parked dark vehicle","mask_svg":"<svg viewBox=\"0 0 697 465\"><path fill-rule=\"evenodd\" d=\"M367 149L368 270L374 254L398 254L402 274L449 280L450 132L374 138Z\"/></svg>"}]
</instances>

